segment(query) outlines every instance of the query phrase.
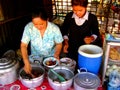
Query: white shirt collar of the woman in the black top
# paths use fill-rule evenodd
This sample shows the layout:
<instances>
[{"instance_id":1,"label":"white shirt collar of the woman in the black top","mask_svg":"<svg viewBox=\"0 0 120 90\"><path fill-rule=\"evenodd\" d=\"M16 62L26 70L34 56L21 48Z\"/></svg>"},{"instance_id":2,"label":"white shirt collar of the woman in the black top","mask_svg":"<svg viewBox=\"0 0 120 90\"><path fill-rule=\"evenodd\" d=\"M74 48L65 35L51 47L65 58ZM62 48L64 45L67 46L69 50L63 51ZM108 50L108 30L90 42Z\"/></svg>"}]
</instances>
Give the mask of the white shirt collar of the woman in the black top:
<instances>
[{"instance_id":1,"label":"white shirt collar of the woman in the black top","mask_svg":"<svg viewBox=\"0 0 120 90\"><path fill-rule=\"evenodd\" d=\"M82 25L86 20L88 20L88 15L89 15L89 12L87 11L82 18L79 18L79 17L76 16L76 14L74 13L74 14L72 15L72 18L74 18L74 19L75 19L75 23L76 23L78 26L80 26L80 25Z\"/></svg>"}]
</instances>

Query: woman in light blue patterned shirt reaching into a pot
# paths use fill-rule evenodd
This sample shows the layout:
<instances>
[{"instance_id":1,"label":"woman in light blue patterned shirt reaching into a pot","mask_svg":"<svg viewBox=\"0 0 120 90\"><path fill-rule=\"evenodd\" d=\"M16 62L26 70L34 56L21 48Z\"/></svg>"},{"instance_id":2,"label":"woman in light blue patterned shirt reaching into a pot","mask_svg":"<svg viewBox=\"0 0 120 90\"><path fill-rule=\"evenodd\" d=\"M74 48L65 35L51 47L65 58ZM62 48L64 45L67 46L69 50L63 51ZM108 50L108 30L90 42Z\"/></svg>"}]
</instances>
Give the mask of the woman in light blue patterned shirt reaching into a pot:
<instances>
[{"instance_id":1,"label":"woman in light blue patterned shirt reaching into a pot","mask_svg":"<svg viewBox=\"0 0 120 90\"><path fill-rule=\"evenodd\" d=\"M21 39L21 52L24 61L24 70L31 72L28 56L28 44L30 43L31 55L40 57L54 56L59 59L62 48L62 34L58 26L48 21L44 10L35 10L32 13L32 21L29 22Z\"/></svg>"}]
</instances>

